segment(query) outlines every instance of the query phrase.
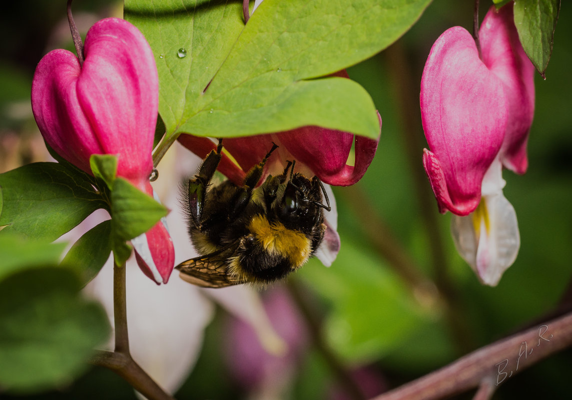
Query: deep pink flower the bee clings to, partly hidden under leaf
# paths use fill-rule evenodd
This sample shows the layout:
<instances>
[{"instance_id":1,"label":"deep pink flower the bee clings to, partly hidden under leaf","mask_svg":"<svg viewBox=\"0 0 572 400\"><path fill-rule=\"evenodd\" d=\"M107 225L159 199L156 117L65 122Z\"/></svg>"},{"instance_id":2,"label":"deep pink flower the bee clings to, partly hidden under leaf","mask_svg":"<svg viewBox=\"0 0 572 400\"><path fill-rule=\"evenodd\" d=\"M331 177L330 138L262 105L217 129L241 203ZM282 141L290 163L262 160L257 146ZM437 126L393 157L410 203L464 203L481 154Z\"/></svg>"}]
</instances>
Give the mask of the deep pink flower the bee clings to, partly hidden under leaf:
<instances>
[{"instance_id":1,"label":"deep pink flower the bee clings to, partly hidden under leaf","mask_svg":"<svg viewBox=\"0 0 572 400\"><path fill-rule=\"evenodd\" d=\"M348 78L345 71L334 75ZM381 133L382 119L379 113L378 118ZM205 137L182 134L178 137L178 141L201 158L205 158L211 150L216 149L215 142ZM348 165L349 153L354 142L355 162L353 165ZM330 266L340 249L340 237L337 234L336 203L329 185L349 186L358 182L374 159L378 142L379 137L364 138L319 126L303 126L285 132L242 138L225 138L224 149L232 155L234 161L223 153L219 171L232 182L241 185L247 171L259 163L272 148L273 143L276 143L279 147L268 159L261 182L264 182L269 174L283 173L287 162L295 160L297 172L308 177L316 175L326 183L324 186L332 210L324 214L327 230L315 255L325 266Z\"/></svg>"}]
</instances>

